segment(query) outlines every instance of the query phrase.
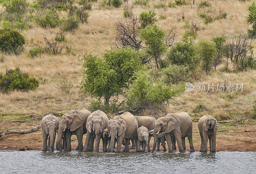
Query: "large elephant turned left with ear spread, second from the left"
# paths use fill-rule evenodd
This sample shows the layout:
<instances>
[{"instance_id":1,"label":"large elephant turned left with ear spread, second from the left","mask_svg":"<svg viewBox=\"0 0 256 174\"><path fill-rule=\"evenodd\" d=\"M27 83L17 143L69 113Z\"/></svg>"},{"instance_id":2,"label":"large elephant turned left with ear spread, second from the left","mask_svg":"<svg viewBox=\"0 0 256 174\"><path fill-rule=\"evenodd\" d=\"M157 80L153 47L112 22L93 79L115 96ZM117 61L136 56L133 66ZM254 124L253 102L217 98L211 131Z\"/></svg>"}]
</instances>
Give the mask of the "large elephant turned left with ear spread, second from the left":
<instances>
[{"instance_id":1,"label":"large elephant turned left with ear spread, second from the left","mask_svg":"<svg viewBox=\"0 0 256 174\"><path fill-rule=\"evenodd\" d=\"M70 110L67 114L60 118L58 137L56 141L56 149L62 151L61 138L63 137L64 150L71 151L71 135L76 135L78 141L79 152L84 150L83 135L87 132L86 121L88 116L92 114L84 107L76 110Z\"/></svg>"}]
</instances>

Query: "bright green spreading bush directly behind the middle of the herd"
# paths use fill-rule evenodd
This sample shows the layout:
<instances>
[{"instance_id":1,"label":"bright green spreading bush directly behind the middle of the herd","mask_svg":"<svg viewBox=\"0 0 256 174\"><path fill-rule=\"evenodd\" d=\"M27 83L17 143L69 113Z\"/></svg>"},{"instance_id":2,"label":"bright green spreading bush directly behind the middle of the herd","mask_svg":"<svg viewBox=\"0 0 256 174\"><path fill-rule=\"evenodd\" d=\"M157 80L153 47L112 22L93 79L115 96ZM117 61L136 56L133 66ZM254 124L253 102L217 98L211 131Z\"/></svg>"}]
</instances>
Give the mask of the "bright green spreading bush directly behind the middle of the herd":
<instances>
[{"instance_id":1,"label":"bright green spreading bush directly behind the middle of the herd","mask_svg":"<svg viewBox=\"0 0 256 174\"><path fill-rule=\"evenodd\" d=\"M164 110L164 105L172 97L184 90L184 87L168 87L162 82L154 81L148 71L139 71L127 93L127 105L132 108L148 107Z\"/></svg>"}]
</instances>

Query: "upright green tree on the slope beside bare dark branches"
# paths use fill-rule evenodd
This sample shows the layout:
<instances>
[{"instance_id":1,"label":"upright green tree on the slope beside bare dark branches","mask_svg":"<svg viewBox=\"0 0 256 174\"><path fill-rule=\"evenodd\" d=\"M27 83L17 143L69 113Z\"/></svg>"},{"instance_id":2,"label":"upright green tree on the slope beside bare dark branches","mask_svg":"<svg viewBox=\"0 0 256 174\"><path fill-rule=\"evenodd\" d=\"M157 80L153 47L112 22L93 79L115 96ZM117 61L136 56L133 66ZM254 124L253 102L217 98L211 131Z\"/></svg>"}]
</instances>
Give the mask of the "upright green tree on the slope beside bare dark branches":
<instances>
[{"instance_id":1,"label":"upright green tree on the slope beside bare dark branches","mask_svg":"<svg viewBox=\"0 0 256 174\"><path fill-rule=\"evenodd\" d=\"M148 55L155 60L157 69L160 67L161 56L166 50L164 35L164 31L156 25L147 26L140 30L140 38L145 42Z\"/></svg>"}]
</instances>

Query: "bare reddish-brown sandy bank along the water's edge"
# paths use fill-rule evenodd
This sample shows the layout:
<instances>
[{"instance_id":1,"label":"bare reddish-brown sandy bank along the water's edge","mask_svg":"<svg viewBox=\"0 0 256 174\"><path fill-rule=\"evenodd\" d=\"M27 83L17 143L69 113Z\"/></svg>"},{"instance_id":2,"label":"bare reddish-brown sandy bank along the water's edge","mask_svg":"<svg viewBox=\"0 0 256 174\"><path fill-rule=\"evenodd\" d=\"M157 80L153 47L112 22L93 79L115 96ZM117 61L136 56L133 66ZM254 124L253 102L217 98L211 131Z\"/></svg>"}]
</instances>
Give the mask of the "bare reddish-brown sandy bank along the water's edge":
<instances>
[{"instance_id":1,"label":"bare reddish-brown sandy bank along the water's edge","mask_svg":"<svg viewBox=\"0 0 256 174\"><path fill-rule=\"evenodd\" d=\"M39 124L38 121L29 121L28 123L12 123L9 120L2 120L0 122L0 132L4 130L21 130L32 128ZM217 132L216 150L217 151L256 151L256 132L244 132L245 130L256 130L255 123L235 124L224 123L220 125L220 130ZM84 135L85 140L86 135ZM72 149L77 146L77 139L72 135L74 141L71 142ZM9 134L0 139L0 150L19 150L25 147L35 150L40 150L42 147L43 135L42 130L28 134ZM196 151L200 149L201 138L197 123L193 122L193 144ZM131 145L130 145L131 146ZM176 145L177 146L177 145ZM186 139L187 150L189 150L189 143ZM208 143L209 146L209 143ZM153 138L150 141L150 147L153 147ZM167 148L166 144L166 148ZM178 146L177 146L178 147ZM122 146L124 148L124 146ZM163 147L160 146L160 150ZM102 143L100 143L100 150L102 150ZM135 150L135 149L131 149ZM208 147L209 150L209 147Z\"/></svg>"}]
</instances>

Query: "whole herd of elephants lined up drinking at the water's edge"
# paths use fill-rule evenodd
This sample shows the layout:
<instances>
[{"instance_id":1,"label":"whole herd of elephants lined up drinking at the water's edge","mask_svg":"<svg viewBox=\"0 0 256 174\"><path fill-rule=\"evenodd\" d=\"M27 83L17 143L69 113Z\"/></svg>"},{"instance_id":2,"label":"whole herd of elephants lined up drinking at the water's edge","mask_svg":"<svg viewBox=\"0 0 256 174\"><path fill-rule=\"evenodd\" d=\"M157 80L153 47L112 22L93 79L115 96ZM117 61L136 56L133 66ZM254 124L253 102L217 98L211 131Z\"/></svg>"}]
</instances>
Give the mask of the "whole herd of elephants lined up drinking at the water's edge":
<instances>
[{"instance_id":1,"label":"whole herd of elephants lined up drinking at the water's edge","mask_svg":"<svg viewBox=\"0 0 256 174\"><path fill-rule=\"evenodd\" d=\"M216 119L211 115L204 115L199 119L200 152L207 152L208 139L210 151L216 151L218 126ZM41 128L43 131L43 151L54 151L57 132L56 149L59 151L71 151L71 135L76 135L78 141L76 150L80 152L99 152L100 139L102 139L104 152L115 152L115 144L116 152L121 152L122 144L125 146L123 151L129 151L130 139L132 140L132 147L136 148L137 152L145 152L146 146L150 152L149 142L152 136L154 137L152 153L156 146L159 150L160 142L166 151L165 141L169 152L176 150L176 141L179 151L185 152L185 137L188 137L190 152L195 151L192 142L192 120L184 111L167 114L158 119L150 115L134 116L130 112L124 112L122 115L116 115L113 119L108 120L108 116L100 110L91 113L81 107L62 115L60 121L59 118L51 114L44 116ZM83 146L84 134L86 134L86 138ZM142 146L142 150L140 146Z\"/></svg>"}]
</instances>

